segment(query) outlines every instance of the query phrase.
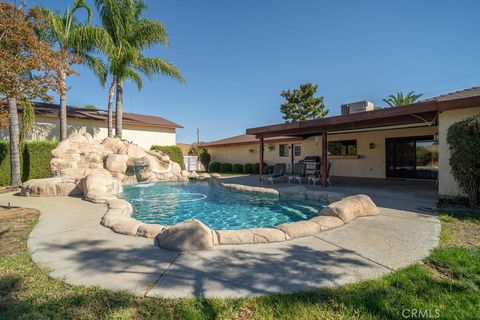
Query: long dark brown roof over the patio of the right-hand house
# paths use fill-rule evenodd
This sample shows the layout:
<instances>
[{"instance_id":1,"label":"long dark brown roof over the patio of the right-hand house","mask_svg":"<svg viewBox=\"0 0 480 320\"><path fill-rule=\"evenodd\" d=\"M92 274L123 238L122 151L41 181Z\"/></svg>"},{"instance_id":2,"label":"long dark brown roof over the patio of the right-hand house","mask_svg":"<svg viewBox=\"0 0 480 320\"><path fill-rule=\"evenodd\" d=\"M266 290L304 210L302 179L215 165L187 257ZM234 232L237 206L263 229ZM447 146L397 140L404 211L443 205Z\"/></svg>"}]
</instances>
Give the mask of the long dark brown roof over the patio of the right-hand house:
<instances>
[{"instance_id":1,"label":"long dark brown roof over the patio of the right-hand house","mask_svg":"<svg viewBox=\"0 0 480 320\"><path fill-rule=\"evenodd\" d=\"M478 106L480 106L480 89L474 87L407 106L250 128L246 133L255 135L257 138L290 135L307 138L324 132L339 133L393 126L431 125L435 122L438 112Z\"/></svg>"}]
</instances>

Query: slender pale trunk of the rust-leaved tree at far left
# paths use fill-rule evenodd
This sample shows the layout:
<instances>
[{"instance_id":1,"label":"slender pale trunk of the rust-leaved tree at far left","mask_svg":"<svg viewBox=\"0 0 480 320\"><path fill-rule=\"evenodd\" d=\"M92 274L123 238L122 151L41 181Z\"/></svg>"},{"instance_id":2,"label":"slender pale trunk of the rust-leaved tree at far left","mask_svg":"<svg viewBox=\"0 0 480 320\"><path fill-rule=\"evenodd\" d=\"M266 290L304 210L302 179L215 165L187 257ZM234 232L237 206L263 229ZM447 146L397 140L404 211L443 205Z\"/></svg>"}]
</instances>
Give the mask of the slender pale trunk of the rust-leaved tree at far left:
<instances>
[{"instance_id":1,"label":"slender pale trunk of the rust-leaved tree at far left","mask_svg":"<svg viewBox=\"0 0 480 320\"><path fill-rule=\"evenodd\" d=\"M22 185L20 179L20 130L18 126L17 99L8 98L9 127L10 127L10 184L12 187Z\"/></svg>"}]
</instances>

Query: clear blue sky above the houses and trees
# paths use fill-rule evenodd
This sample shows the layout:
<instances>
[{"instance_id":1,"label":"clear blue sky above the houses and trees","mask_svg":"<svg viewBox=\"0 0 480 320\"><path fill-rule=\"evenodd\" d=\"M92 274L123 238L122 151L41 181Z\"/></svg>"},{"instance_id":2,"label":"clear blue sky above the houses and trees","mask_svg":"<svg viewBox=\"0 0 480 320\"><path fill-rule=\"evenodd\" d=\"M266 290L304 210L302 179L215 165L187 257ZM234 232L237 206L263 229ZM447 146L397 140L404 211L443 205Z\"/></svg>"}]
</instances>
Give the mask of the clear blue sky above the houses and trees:
<instances>
[{"instance_id":1,"label":"clear blue sky above the houses and trees","mask_svg":"<svg viewBox=\"0 0 480 320\"><path fill-rule=\"evenodd\" d=\"M88 0L93 5L93 0ZM64 10L71 1L29 0ZM480 1L147 0L186 85L161 76L124 90L124 110L182 124L178 142L282 122L283 89L318 84L330 115L343 103L397 90L425 97L480 84ZM95 19L98 22L98 19ZM69 79L69 105L105 108L107 88L88 69ZM57 99L57 98L56 98ZM57 99L58 100L58 99Z\"/></svg>"}]
</instances>

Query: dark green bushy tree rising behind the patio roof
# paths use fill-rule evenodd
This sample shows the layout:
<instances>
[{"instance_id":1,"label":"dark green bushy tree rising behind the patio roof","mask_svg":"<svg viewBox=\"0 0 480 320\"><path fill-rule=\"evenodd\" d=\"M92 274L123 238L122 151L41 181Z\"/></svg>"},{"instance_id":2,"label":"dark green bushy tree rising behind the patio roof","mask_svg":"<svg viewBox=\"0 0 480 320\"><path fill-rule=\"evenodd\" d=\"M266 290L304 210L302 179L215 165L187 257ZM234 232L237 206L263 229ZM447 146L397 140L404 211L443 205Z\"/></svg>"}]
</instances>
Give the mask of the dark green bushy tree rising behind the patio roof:
<instances>
[{"instance_id":1,"label":"dark green bushy tree rising behind the patio roof","mask_svg":"<svg viewBox=\"0 0 480 320\"><path fill-rule=\"evenodd\" d=\"M286 122L325 118L329 110L325 109L323 97L315 97L318 86L311 83L300 85L300 89L284 90L281 96L286 102L280 107Z\"/></svg>"}]
</instances>

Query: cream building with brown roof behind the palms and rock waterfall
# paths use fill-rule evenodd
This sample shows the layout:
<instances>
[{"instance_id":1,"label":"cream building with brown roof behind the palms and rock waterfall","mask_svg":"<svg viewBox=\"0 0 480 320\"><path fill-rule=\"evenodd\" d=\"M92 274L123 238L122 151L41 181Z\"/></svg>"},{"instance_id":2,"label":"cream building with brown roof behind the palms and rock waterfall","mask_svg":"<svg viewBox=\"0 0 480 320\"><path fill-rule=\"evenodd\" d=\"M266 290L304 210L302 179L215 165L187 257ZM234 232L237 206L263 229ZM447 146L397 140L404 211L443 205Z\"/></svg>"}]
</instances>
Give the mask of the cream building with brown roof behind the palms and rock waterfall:
<instances>
[{"instance_id":1,"label":"cream building with brown roof behind the palms and rock waterfall","mask_svg":"<svg viewBox=\"0 0 480 320\"><path fill-rule=\"evenodd\" d=\"M59 140L59 105L34 103L35 124L29 140ZM21 118L22 110L19 109ZM90 133L95 139L107 137L107 111L67 107L68 134ZM115 113L113 115L115 128ZM123 113L123 139L132 141L144 148L152 145L175 145L176 129L179 124L157 116L136 113ZM115 132L115 130L114 130ZM8 139L8 129L0 129L0 140Z\"/></svg>"}]
</instances>

